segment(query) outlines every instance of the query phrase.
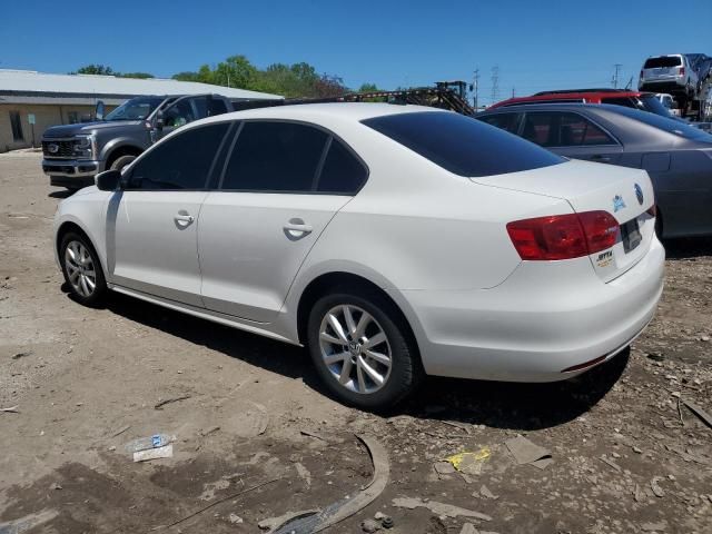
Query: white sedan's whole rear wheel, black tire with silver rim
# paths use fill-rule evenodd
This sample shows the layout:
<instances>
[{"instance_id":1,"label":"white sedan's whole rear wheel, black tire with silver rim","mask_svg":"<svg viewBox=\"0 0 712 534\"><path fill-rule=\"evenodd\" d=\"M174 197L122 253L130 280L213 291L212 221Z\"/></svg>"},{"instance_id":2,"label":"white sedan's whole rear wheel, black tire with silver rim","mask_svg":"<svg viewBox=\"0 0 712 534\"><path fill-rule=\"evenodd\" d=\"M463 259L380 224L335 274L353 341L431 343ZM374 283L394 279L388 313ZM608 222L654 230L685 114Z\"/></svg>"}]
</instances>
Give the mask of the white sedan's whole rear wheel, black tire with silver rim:
<instances>
[{"instance_id":1,"label":"white sedan's whole rear wheel, black tire with silver rim","mask_svg":"<svg viewBox=\"0 0 712 534\"><path fill-rule=\"evenodd\" d=\"M307 345L324 385L344 404L370 412L392 408L419 384L424 373L411 338L403 316L376 293L326 295L308 318Z\"/></svg>"}]
</instances>

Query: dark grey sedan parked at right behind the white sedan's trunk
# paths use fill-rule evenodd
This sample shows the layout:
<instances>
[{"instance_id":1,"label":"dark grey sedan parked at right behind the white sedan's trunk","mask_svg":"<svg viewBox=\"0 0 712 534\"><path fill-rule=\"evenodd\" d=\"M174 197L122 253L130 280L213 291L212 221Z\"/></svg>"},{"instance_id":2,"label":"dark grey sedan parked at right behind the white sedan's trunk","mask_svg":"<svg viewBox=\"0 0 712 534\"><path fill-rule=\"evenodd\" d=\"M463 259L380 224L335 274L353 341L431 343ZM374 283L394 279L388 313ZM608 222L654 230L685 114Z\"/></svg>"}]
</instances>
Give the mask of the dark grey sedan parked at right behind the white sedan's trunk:
<instances>
[{"instance_id":1,"label":"dark grey sedan parked at right behind the white sedan's trunk","mask_svg":"<svg viewBox=\"0 0 712 534\"><path fill-rule=\"evenodd\" d=\"M689 123L581 103L501 108L477 119L560 156L644 169L655 188L661 237L712 234L712 136Z\"/></svg>"}]
</instances>

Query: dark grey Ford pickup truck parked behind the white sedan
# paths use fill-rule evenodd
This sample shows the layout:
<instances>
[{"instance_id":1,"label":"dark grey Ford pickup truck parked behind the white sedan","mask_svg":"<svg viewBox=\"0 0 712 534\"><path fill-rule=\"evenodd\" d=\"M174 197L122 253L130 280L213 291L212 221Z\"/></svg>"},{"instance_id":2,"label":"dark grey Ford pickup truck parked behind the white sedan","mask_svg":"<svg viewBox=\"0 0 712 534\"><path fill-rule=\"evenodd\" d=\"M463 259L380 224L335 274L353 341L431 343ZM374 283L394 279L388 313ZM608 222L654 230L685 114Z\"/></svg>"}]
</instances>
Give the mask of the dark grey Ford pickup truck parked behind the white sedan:
<instances>
[{"instance_id":1,"label":"dark grey Ford pickup truck parked behind the white sedan","mask_svg":"<svg viewBox=\"0 0 712 534\"><path fill-rule=\"evenodd\" d=\"M197 119L234 111L218 95L144 96L127 100L96 121L53 126L42 136L42 170L50 185L80 189L107 169L122 169L176 128Z\"/></svg>"}]
</instances>

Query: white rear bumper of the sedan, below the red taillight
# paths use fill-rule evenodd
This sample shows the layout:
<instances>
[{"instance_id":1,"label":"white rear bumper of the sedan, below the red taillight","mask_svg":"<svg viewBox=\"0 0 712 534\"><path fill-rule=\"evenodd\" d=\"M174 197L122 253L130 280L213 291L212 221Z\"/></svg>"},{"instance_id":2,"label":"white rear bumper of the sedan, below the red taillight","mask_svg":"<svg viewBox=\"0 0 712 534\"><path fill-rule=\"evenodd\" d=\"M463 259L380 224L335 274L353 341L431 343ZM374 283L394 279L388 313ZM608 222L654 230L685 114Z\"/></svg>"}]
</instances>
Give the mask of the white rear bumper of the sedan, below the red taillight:
<instances>
[{"instance_id":1,"label":"white rear bumper of the sedan, below the red taillight","mask_svg":"<svg viewBox=\"0 0 712 534\"><path fill-rule=\"evenodd\" d=\"M607 284L581 258L524 261L492 289L404 291L422 327L425 370L505 382L578 375L624 349L653 318L664 258L653 238L646 255Z\"/></svg>"}]
</instances>

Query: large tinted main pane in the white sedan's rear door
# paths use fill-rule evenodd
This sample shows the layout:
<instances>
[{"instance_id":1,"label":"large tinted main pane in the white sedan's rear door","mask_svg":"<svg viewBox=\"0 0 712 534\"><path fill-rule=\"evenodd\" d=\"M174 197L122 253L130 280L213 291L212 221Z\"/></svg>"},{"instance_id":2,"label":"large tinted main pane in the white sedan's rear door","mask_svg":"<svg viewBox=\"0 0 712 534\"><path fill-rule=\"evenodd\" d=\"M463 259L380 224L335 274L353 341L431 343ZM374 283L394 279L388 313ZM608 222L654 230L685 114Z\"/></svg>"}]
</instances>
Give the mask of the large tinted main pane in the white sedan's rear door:
<instances>
[{"instance_id":1,"label":"large tinted main pane in the white sedan's rear door","mask_svg":"<svg viewBox=\"0 0 712 534\"><path fill-rule=\"evenodd\" d=\"M328 137L323 130L296 122L244 122L222 189L312 191Z\"/></svg>"}]
</instances>

